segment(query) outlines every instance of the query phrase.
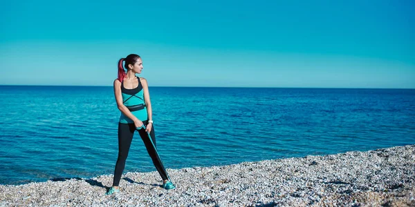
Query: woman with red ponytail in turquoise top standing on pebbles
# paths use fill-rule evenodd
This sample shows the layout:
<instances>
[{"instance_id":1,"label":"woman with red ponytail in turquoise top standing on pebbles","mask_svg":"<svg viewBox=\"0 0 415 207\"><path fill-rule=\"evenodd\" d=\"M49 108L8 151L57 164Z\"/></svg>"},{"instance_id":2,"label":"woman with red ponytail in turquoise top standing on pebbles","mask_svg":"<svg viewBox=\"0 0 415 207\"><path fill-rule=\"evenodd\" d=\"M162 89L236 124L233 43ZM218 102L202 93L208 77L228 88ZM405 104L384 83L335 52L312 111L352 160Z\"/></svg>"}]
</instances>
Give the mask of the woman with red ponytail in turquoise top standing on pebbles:
<instances>
[{"instance_id":1,"label":"woman with red ponytail in turquoise top standing on pebbles","mask_svg":"<svg viewBox=\"0 0 415 207\"><path fill-rule=\"evenodd\" d=\"M127 73L122 67L127 69ZM151 119L151 102L149 95L149 88L147 80L142 77L136 77L136 73L140 74L142 70L142 60L140 56L131 54L118 61L118 79L114 81L114 94L118 109L121 111L120 121L118 123L118 159L116 170L114 170L113 186L109 188L107 195L120 192L118 184L122 171L124 170L125 160L127 159L133 134L138 130L139 135L144 141L145 147L154 166L163 179L163 188L166 190L176 188L171 181L169 181L167 172L163 164L157 159L156 137L154 135L154 126ZM142 127L142 126L145 126ZM151 141L148 134L151 136Z\"/></svg>"}]
</instances>

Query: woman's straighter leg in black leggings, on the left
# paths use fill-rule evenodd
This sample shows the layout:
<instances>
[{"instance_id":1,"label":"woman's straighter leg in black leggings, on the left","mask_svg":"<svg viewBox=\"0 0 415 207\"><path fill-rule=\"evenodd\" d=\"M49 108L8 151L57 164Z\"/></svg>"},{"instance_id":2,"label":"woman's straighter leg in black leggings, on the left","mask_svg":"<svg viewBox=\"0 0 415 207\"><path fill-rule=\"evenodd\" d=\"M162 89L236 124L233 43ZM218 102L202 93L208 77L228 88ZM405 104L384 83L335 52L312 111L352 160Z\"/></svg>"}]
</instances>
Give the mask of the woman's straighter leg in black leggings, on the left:
<instances>
[{"instance_id":1,"label":"woman's straighter leg in black leggings, on the left","mask_svg":"<svg viewBox=\"0 0 415 207\"><path fill-rule=\"evenodd\" d=\"M125 167L125 160L127 159L135 130L134 124L118 124L118 159L116 170L114 170L113 186L120 184L122 171L124 171Z\"/></svg>"}]
</instances>

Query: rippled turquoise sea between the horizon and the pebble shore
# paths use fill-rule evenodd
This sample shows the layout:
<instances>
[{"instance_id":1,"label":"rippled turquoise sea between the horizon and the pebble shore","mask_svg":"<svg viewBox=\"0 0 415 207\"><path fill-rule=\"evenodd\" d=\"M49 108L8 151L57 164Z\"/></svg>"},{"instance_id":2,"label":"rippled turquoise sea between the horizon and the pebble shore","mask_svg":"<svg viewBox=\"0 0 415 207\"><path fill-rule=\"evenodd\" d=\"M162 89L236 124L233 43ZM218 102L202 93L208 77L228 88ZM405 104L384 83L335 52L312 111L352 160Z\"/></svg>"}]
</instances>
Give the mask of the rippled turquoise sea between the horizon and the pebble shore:
<instances>
[{"instance_id":1,"label":"rippled turquoise sea between the horizon and the pebble shore","mask_svg":"<svg viewBox=\"0 0 415 207\"><path fill-rule=\"evenodd\" d=\"M0 86L0 184L112 174L112 87ZM415 90L150 88L167 168L415 144ZM154 171L134 137L124 172Z\"/></svg>"}]
</instances>

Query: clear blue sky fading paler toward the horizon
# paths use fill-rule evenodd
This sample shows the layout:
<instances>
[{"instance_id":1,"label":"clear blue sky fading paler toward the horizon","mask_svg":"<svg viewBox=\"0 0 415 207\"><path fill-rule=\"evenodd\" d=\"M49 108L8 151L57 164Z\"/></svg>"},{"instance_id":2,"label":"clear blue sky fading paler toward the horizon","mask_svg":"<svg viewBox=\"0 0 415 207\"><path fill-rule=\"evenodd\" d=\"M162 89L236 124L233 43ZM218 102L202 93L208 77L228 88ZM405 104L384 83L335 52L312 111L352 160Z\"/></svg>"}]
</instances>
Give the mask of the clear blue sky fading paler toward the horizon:
<instances>
[{"instance_id":1,"label":"clear blue sky fading paler toward the horizon","mask_svg":"<svg viewBox=\"0 0 415 207\"><path fill-rule=\"evenodd\" d=\"M414 1L1 1L0 85L415 88Z\"/></svg>"}]
</instances>

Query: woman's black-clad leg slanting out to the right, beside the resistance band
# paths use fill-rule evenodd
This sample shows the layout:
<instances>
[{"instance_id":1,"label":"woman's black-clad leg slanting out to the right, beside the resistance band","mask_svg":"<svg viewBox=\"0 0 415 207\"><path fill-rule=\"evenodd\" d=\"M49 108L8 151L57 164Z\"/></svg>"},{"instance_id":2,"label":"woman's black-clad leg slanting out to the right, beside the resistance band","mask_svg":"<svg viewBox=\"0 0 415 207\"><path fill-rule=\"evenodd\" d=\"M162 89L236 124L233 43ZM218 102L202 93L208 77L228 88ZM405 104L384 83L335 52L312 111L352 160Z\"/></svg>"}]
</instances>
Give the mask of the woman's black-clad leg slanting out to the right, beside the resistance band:
<instances>
[{"instance_id":1,"label":"woman's black-clad leg slanting out to the right, beside the resistance band","mask_svg":"<svg viewBox=\"0 0 415 207\"><path fill-rule=\"evenodd\" d=\"M147 123L145 124L147 125ZM163 164L161 163L161 161L157 159L156 150L154 150L153 144L151 144L151 141L149 139L149 136L147 135L147 132L145 132L144 129L140 129L138 132L140 132L140 137L145 144L145 148L147 148L147 152L149 153L151 160L153 161L153 164L156 167L161 178L163 179L163 181L167 180L167 172L165 168L163 167ZM154 126L151 127L150 137L154 143L154 146L156 146L156 136L154 135Z\"/></svg>"}]
</instances>

